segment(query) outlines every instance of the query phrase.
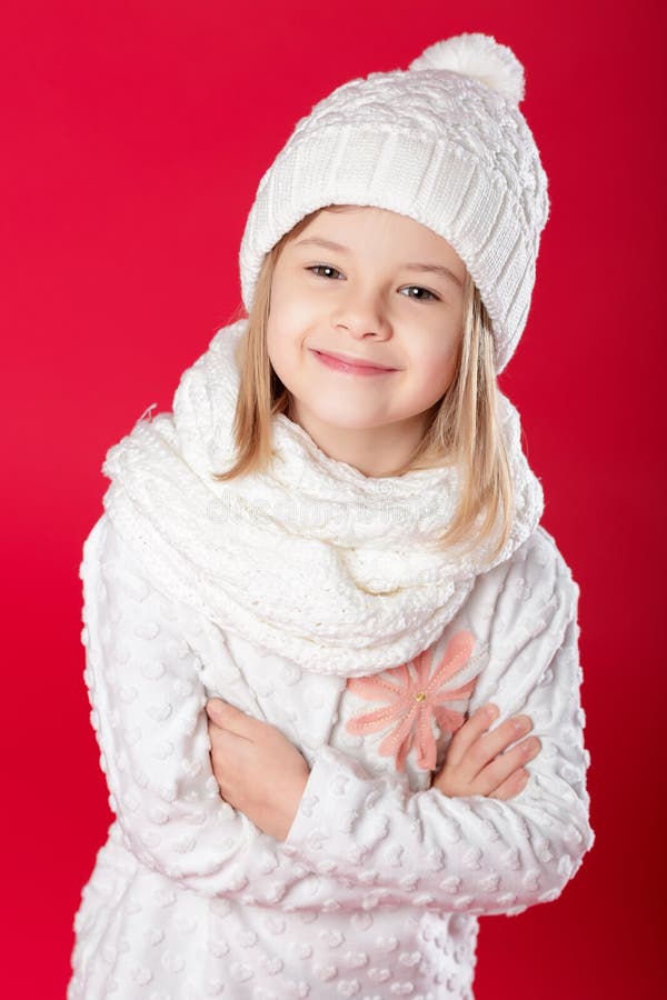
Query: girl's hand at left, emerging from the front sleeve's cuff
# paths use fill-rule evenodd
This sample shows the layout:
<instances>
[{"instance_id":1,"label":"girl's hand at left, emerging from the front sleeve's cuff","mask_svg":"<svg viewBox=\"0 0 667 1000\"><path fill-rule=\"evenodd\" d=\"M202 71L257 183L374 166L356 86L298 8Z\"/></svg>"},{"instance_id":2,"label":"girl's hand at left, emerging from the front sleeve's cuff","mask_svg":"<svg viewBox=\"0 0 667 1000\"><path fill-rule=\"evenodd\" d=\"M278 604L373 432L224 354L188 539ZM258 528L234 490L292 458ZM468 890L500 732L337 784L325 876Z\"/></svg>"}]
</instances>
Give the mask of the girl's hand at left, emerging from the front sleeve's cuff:
<instances>
[{"instance_id":1,"label":"girl's hand at left, emerging from the front sleeve's cuff","mask_svg":"<svg viewBox=\"0 0 667 1000\"><path fill-rule=\"evenodd\" d=\"M285 840L310 773L279 729L220 698L206 703L211 763L220 793L265 833Z\"/></svg>"}]
</instances>

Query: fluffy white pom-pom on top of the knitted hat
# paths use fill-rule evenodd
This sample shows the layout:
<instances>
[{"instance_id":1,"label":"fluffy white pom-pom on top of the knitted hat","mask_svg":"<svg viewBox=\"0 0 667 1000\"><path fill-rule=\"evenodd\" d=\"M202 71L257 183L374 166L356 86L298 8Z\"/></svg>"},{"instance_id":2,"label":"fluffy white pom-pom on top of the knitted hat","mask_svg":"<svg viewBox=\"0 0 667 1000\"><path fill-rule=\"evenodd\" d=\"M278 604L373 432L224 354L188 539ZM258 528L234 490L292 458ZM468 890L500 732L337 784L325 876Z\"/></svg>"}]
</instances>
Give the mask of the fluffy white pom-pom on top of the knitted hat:
<instances>
[{"instance_id":1,"label":"fluffy white pom-pom on top of the knitted hat","mask_svg":"<svg viewBox=\"0 0 667 1000\"><path fill-rule=\"evenodd\" d=\"M467 32L435 42L414 59L411 70L450 70L479 80L508 101L520 104L526 93L524 67L507 46L491 34Z\"/></svg>"}]
</instances>

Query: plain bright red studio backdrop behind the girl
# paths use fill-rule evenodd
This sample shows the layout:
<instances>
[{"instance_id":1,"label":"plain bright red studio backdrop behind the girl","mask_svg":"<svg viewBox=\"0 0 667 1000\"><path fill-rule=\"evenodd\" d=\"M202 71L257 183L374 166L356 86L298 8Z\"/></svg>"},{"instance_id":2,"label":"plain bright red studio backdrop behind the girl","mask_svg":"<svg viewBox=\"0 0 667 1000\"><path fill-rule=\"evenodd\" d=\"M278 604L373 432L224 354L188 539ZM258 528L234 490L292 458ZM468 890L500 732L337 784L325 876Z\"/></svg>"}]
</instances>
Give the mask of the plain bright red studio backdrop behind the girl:
<instances>
[{"instance_id":1,"label":"plain bright red studio backdrop behind the girl","mask_svg":"<svg viewBox=\"0 0 667 1000\"><path fill-rule=\"evenodd\" d=\"M259 179L336 86L484 31L526 68L551 218L501 387L581 587L593 851L560 899L481 920L477 1000L657 997L665 652L658 4L91 0L3 7L2 991L64 996L110 812L78 568L106 450L240 303ZM658 49L658 44L660 48ZM660 123L661 122L661 123ZM196 1000L196 998L192 998Z\"/></svg>"}]
</instances>

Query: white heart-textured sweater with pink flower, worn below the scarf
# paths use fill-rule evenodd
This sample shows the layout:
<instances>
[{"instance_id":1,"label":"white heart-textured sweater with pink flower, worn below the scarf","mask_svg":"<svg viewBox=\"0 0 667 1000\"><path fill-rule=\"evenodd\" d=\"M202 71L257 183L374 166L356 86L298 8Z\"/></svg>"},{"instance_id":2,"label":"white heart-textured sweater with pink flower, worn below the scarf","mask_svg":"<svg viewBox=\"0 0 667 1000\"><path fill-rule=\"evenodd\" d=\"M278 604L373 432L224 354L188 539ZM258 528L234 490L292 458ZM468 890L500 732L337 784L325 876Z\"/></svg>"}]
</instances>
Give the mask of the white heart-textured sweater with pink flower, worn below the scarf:
<instances>
[{"instance_id":1,"label":"white heart-textured sweater with pink flower, worn below the scarf","mask_svg":"<svg viewBox=\"0 0 667 1000\"><path fill-rule=\"evenodd\" d=\"M556 899L593 846L579 589L541 527L467 580L425 650L384 670L318 671L233 614L222 627L109 511L80 574L116 819L74 918L68 1000L470 1000L477 918ZM311 769L285 842L220 798L215 696L278 727ZM491 728L528 714L541 750L512 799L448 798L429 787L447 727L487 701Z\"/></svg>"}]
</instances>

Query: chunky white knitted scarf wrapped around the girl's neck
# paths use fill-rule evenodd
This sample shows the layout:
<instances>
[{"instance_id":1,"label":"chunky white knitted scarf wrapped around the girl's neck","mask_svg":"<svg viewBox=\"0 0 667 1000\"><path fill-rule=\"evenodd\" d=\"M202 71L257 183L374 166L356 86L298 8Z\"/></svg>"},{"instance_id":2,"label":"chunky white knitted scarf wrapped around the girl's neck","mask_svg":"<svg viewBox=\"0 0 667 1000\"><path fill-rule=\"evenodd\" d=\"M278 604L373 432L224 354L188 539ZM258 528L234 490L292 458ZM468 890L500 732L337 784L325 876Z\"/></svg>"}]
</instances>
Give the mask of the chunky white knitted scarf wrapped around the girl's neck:
<instances>
[{"instance_id":1,"label":"chunky white knitted scarf wrapped around the girl's neck","mask_svg":"<svg viewBox=\"0 0 667 1000\"><path fill-rule=\"evenodd\" d=\"M475 577L539 523L544 496L499 393L516 490L502 552L438 550L459 489L456 468L370 478L275 418L268 471L219 482L232 464L247 319L217 331L182 373L172 413L140 419L107 452L104 509L156 586L223 630L317 673L360 677L410 660L441 633Z\"/></svg>"}]
</instances>

